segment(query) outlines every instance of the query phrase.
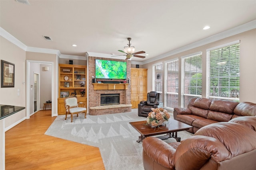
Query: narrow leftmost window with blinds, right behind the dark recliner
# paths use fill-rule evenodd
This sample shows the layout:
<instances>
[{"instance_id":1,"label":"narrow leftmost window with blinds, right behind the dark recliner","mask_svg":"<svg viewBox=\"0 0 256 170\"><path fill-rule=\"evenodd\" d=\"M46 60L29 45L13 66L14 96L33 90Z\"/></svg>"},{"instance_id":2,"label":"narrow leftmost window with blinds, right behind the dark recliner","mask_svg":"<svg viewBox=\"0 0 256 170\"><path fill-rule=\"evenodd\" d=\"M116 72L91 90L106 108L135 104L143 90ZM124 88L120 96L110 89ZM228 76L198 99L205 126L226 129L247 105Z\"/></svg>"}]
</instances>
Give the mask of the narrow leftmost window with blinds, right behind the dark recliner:
<instances>
[{"instance_id":1,"label":"narrow leftmost window with blinds, right behind the dark recliner","mask_svg":"<svg viewBox=\"0 0 256 170\"><path fill-rule=\"evenodd\" d=\"M163 101L162 96L162 87L163 87L163 64L159 63L156 65L153 65L153 90L161 93L160 95L160 102Z\"/></svg>"}]
</instances>

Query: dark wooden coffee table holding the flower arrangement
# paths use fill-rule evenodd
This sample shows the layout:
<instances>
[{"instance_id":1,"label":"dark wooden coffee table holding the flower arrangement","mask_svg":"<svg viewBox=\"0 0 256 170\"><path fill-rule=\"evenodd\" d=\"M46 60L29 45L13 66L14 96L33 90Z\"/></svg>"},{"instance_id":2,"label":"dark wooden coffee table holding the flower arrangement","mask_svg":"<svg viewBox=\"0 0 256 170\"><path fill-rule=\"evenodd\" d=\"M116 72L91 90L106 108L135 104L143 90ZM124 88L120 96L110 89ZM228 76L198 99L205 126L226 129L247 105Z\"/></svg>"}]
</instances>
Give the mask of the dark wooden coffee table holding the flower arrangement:
<instances>
[{"instance_id":1,"label":"dark wooden coffee table holding the flower arrangement","mask_svg":"<svg viewBox=\"0 0 256 170\"><path fill-rule=\"evenodd\" d=\"M146 125L146 121L134 121L129 123L132 125L132 127L134 127L134 129L136 129L140 133L139 139L137 140L138 143L142 142L143 139L145 139L146 137L162 134L166 135L158 136L158 138L163 140L173 137L174 139L176 139L177 142L180 142L180 137L177 136L177 132L185 131L192 128L192 126L182 123L180 121L176 121L174 119L169 119L169 123L160 125L160 128L152 128L149 125Z\"/></svg>"}]
</instances>

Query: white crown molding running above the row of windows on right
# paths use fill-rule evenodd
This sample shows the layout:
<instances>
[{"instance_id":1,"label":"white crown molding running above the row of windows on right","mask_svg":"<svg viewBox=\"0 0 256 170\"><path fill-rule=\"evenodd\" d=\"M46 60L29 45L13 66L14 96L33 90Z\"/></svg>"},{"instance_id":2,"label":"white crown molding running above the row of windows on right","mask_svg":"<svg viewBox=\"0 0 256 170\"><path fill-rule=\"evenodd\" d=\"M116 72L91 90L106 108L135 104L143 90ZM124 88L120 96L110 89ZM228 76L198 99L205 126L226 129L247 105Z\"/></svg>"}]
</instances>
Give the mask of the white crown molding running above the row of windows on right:
<instances>
[{"instance_id":1,"label":"white crown molding running above the row of windows on right","mask_svg":"<svg viewBox=\"0 0 256 170\"><path fill-rule=\"evenodd\" d=\"M196 42L191 43L189 45L185 45L183 47L180 47L180 48L175 49L173 51L170 51L168 53L156 56L153 59L148 59L146 61L143 61L142 64L147 64L147 63L151 63L151 62L154 62L154 61L157 61L157 60L160 60L160 59L164 59L166 57L170 57L172 55L182 53L184 51L194 49L196 47L200 47L202 45L206 45L208 43L212 43L214 41L218 41L220 39L224 39L224 38L230 37L232 35L236 35L236 34L239 34L239 33L245 32L245 31L249 31L249 30L255 29L255 28L256 28L256 20L253 20L253 21L250 21L250 22L245 23L243 25L239 25L239 26L234 27L232 29L229 29L229 30L223 31L221 33L218 33L216 35L212 35L212 36L210 36L208 38L205 38L205 39L202 39L200 41L196 41Z\"/></svg>"}]
</instances>

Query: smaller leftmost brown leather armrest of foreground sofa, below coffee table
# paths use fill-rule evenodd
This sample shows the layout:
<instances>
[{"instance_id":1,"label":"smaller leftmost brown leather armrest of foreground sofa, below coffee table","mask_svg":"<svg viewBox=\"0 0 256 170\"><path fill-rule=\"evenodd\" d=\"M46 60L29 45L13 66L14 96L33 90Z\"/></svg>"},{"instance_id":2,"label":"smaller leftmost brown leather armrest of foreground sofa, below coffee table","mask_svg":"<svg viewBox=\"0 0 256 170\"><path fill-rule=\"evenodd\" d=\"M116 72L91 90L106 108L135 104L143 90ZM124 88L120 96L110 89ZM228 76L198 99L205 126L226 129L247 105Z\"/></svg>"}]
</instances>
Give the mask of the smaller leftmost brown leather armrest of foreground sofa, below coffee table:
<instances>
[{"instance_id":1,"label":"smaller leftmost brown leather armrest of foreground sofa, below coffee table","mask_svg":"<svg viewBox=\"0 0 256 170\"><path fill-rule=\"evenodd\" d=\"M144 158L149 158L165 168L174 169L174 154L176 148L156 137L147 137L143 140L142 146L143 152L146 154ZM143 162L148 162L148 160L143 160Z\"/></svg>"}]
</instances>

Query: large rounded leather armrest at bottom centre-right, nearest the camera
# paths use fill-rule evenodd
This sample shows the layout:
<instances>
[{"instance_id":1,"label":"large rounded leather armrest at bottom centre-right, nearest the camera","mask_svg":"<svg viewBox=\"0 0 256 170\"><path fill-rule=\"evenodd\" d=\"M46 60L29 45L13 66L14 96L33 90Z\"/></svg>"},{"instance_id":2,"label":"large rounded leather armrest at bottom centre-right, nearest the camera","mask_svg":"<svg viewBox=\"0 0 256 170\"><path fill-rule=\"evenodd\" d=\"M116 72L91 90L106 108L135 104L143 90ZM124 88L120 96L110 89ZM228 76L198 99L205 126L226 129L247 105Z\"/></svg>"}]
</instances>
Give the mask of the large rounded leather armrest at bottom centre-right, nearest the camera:
<instances>
[{"instance_id":1,"label":"large rounded leather armrest at bottom centre-right, nearest the camera","mask_svg":"<svg viewBox=\"0 0 256 170\"><path fill-rule=\"evenodd\" d=\"M179 170L217 169L220 162L231 158L232 154L219 139L194 135L176 149L174 162Z\"/></svg>"}]
</instances>

